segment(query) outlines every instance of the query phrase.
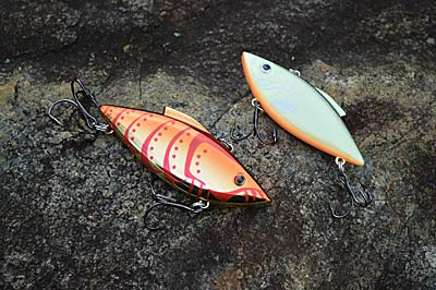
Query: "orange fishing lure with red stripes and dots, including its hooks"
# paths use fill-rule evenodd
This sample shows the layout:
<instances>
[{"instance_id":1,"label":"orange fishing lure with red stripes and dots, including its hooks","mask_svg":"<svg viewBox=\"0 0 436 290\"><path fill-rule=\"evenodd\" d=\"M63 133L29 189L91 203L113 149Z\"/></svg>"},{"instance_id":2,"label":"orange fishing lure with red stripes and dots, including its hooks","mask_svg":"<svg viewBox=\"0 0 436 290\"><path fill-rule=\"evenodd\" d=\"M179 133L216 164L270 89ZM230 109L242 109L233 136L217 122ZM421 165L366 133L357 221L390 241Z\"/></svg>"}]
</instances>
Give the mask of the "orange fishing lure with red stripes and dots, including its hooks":
<instances>
[{"instance_id":1,"label":"orange fishing lure with red stripes and dots, including its hooks","mask_svg":"<svg viewBox=\"0 0 436 290\"><path fill-rule=\"evenodd\" d=\"M81 90L75 92L75 84L80 85ZM231 155L227 144L215 138L192 117L169 107L162 113L157 113L98 105L94 95L77 78L71 82L71 89L73 99L61 99L50 106L48 113L53 121L61 124L51 113L55 106L60 102L74 105L90 129L114 133L158 178L197 198L196 203L185 206L168 196L156 194L152 188L157 203L146 215L158 205L199 213L209 206L209 202L235 206L270 202L261 185ZM98 108L106 122L99 123L84 108L80 97Z\"/></svg>"}]
</instances>

